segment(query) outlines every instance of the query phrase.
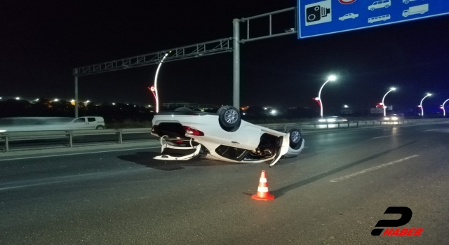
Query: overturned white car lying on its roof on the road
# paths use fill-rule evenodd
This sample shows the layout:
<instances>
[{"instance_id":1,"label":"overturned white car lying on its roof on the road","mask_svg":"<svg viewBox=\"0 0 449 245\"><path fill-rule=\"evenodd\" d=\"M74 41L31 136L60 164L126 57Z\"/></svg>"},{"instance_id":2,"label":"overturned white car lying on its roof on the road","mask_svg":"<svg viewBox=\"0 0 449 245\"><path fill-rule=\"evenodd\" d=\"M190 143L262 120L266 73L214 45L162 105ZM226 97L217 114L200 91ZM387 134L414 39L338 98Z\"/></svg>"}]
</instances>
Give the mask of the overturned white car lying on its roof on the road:
<instances>
[{"instance_id":1,"label":"overturned white car lying on its roof on the road","mask_svg":"<svg viewBox=\"0 0 449 245\"><path fill-rule=\"evenodd\" d=\"M157 160L198 156L227 162L271 162L292 158L304 148L300 130L270 130L241 120L239 110L222 106L217 113L178 108L156 113L152 135L161 138Z\"/></svg>"}]
</instances>

